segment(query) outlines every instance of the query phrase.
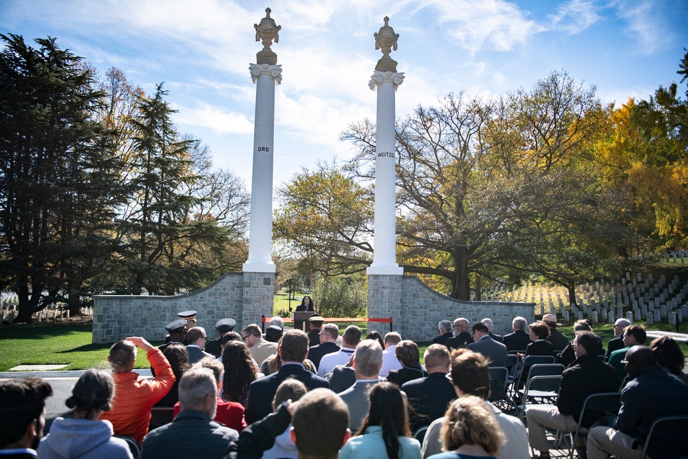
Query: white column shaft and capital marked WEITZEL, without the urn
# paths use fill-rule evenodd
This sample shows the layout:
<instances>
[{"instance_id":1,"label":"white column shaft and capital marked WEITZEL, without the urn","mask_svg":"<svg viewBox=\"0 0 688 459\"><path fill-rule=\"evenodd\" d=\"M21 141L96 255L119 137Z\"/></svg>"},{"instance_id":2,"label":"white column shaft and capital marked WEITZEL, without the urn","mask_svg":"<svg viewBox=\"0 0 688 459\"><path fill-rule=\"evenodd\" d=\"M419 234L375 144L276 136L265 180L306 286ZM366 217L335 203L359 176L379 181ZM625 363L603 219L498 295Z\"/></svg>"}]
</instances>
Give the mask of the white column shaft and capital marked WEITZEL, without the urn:
<instances>
[{"instance_id":1,"label":"white column shaft and capital marked WEITZEL, without the urn","mask_svg":"<svg viewBox=\"0 0 688 459\"><path fill-rule=\"evenodd\" d=\"M404 74L374 72L368 83L377 90L377 136L375 154L375 229L373 263L366 273L402 275L396 264L396 88Z\"/></svg>"}]
</instances>

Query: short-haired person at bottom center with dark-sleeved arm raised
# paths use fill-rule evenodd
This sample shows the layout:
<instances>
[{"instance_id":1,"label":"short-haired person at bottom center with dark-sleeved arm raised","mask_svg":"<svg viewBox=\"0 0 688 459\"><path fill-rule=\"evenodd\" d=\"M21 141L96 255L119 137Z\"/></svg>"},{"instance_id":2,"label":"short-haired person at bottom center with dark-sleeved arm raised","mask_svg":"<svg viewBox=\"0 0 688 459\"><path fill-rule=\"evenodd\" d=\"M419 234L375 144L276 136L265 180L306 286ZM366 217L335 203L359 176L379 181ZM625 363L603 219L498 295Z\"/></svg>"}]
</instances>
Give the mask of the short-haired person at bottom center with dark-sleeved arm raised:
<instances>
[{"instance_id":1,"label":"short-haired person at bottom center with dark-sleeved arm raised","mask_svg":"<svg viewBox=\"0 0 688 459\"><path fill-rule=\"evenodd\" d=\"M351 436L349 410L328 389L313 389L301 400L283 403L275 413L249 425L239 440L232 442L227 459L260 459L272 439L289 427L299 458L336 459L341 446Z\"/></svg>"}]
</instances>

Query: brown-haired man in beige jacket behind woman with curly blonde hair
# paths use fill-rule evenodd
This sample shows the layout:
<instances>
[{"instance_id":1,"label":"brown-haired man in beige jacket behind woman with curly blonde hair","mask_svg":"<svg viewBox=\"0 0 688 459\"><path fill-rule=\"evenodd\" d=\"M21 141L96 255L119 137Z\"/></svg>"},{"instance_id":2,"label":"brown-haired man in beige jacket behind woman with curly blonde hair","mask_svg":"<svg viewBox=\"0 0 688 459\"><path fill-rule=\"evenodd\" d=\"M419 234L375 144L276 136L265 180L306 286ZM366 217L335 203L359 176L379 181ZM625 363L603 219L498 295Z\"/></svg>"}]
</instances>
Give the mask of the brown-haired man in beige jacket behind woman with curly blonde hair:
<instances>
[{"instance_id":1,"label":"brown-haired man in beige jacket behind woman with curly blonde hair","mask_svg":"<svg viewBox=\"0 0 688 459\"><path fill-rule=\"evenodd\" d=\"M528 435L526 428L519 418L502 413L499 408L487 401L490 395L490 372L487 360L482 354L468 349L460 349L451 354L451 383L456 395L477 396L484 400L486 407L494 414L506 442L497 453L498 459L530 459L528 451ZM453 406L453 405L452 405ZM447 424L447 417L443 416L428 427L422 445L422 457L428 458L442 451L440 431Z\"/></svg>"}]
</instances>

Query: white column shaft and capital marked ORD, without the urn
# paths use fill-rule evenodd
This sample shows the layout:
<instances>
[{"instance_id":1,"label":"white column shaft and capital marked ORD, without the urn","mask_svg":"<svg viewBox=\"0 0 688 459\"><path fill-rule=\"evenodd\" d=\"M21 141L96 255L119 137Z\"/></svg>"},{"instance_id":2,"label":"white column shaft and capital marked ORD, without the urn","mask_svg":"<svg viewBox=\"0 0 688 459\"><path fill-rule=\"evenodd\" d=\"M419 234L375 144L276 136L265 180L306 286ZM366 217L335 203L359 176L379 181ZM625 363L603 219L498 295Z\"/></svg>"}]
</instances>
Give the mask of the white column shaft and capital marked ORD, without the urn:
<instances>
[{"instance_id":1,"label":"white column shaft and capital marked ORD, without the urn","mask_svg":"<svg viewBox=\"0 0 688 459\"><path fill-rule=\"evenodd\" d=\"M282 81L281 65L251 64L256 84L253 172L248 260L244 272L275 273L272 262L272 158L275 142L275 86Z\"/></svg>"}]
</instances>

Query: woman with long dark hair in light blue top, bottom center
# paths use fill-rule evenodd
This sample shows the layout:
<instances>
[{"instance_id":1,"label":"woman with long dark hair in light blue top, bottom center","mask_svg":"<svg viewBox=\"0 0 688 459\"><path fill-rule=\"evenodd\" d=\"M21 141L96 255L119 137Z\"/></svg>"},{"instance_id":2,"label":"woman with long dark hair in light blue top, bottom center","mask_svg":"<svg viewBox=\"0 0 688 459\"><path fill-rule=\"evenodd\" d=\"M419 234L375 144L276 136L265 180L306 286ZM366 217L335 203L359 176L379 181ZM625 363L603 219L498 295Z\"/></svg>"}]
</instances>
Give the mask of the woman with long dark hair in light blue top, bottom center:
<instances>
[{"instance_id":1,"label":"woman with long dark hair in light blue top, bottom center","mask_svg":"<svg viewBox=\"0 0 688 459\"><path fill-rule=\"evenodd\" d=\"M406 403L399 388L376 383L369 397L370 411L361 429L339 451L339 459L420 458L420 443L411 438Z\"/></svg>"}]
</instances>

